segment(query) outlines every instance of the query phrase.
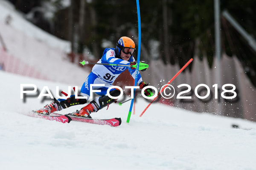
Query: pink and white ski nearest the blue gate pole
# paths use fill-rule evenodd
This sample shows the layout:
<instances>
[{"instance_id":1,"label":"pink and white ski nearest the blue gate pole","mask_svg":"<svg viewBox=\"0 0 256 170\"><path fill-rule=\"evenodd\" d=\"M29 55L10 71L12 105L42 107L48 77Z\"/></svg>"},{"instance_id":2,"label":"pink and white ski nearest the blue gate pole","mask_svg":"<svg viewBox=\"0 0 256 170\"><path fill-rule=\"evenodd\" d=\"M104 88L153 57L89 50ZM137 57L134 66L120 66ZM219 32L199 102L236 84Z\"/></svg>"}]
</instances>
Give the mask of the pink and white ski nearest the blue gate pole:
<instances>
[{"instance_id":1,"label":"pink and white ski nearest the blue gate pole","mask_svg":"<svg viewBox=\"0 0 256 170\"><path fill-rule=\"evenodd\" d=\"M51 113L55 116L61 116L62 114L59 113ZM63 115L62 115L63 116ZM86 117L78 117L73 115L73 113L66 114L65 116L69 116L73 121L77 122L86 122L86 123L92 123L97 125L110 125L113 127L119 126L122 123L121 118L113 118L113 119L89 119Z\"/></svg>"}]
</instances>

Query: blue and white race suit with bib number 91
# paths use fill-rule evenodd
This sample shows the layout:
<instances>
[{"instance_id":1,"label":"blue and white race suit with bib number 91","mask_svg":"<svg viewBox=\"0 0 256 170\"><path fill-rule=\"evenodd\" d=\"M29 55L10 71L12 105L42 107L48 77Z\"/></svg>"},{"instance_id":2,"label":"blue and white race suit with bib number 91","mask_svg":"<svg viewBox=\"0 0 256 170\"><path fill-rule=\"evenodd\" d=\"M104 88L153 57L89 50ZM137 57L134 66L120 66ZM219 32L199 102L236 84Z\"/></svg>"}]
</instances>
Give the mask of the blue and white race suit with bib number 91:
<instances>
[{"instance_id":1,"label":"blue and white race suit with bib number 91","mask_svg":"<svg viewBox=\"0 0 256 170\"><path fill-rule=\"evenodd\" d=\"M135 59L132 55L128 61L125 61L123 59L116 58L116 52L114 48L105 48L102 58L97 63L130 65L130 62L134 61ZM131 76L135 79L136 69L114 65L94 65L92 72L89 74L83 86L81 87L79 95L87 96L87 99L89 99L91 84L105 84L105 86L101 87L93 86L93 90L101 90L101 92L96 92L96 94L100 96L106 95L108 88L113 86L112 84L115 81L115 79L119 76L119 74L121 74L126 69L128 69ZM142 78L139 73L138 83L140 82L142 82Z\"/></svg>"}]
</instances>

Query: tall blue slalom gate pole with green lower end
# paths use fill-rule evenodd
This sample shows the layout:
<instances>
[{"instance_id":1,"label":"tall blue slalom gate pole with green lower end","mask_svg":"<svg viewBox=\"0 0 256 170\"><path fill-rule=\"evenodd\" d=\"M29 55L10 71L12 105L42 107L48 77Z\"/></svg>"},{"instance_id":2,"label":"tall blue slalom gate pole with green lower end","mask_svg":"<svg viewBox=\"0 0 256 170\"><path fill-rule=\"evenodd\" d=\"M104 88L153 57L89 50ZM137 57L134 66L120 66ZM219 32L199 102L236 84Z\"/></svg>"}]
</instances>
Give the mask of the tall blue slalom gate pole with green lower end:
<instances>
[{"instance_id":1,"label":"tall blue slalom gate pole with green lower end","mask_svg":"<svg viewBox=\"0 0 256 170\"><path fill-rule=\"evenodd\" d=\"M137 57L137 68L136 68L136 75L135 75L134 86L137 86L137 82L138 82L139 65L140 65L140 42L141 42L140 4L139 4L139 0L136 0L136 3L137 3L137 13L138 13L139 41L138 41L138 57ZM135 92L136 92L136 88L134 88L134 96L135 96ZM133 104L134 104L134 96L131 99L131 106L130 106L130 110L129 110L127 121L126 121L127 123L130 122L131 110L132 110L132 107L133 107Z\"/></svg>"}]
</instances>

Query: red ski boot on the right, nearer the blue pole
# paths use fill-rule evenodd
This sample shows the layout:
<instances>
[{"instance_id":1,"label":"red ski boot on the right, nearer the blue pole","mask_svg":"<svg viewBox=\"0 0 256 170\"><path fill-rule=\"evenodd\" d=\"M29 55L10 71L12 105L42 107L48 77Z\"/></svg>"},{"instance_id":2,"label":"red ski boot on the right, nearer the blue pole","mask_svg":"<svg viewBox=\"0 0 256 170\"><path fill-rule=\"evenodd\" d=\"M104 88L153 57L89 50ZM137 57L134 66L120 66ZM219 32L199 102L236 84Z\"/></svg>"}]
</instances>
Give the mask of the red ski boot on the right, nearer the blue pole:
<instances>
[{"instance_id":1,"label":"red ski boot on the right, nearer the blue pole","mask_svg":"<svg viewBox=\"0 0 256 170\"><path fill-rule=\"evenodd\" d=\"M77 111L76 113L74 113L74 115L92 119L92 117L90 116L90 113L97 112L99 109L100 109L99 105L93 100L88 105L81 108L80 111Z\"/></svg>"}]
</instances>

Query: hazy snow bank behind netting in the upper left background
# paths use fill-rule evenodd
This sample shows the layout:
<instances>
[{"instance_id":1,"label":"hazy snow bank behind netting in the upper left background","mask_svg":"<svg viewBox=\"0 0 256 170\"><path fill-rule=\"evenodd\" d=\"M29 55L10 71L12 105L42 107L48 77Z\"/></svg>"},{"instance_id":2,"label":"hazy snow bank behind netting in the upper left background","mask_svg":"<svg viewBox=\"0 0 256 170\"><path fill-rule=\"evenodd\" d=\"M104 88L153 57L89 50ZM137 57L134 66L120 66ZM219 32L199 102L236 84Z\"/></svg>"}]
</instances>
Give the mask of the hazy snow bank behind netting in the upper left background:
<instances>
[{"instance_id":1,"label":"hazy snow bank behind netting in the upper left background","mask_svg":"<svg viewBox=\"0 0 256 170\"><path fill-rule=\"evenodd\" d=\"M78 59L71 63L67 57L70 53L69 41L61 40L29 23L6 0L0 0L0 11L0 34L7 48L6 53L15 57L13 60L7 57L9 61L6 64L13 63L15 67L23 68L25 63L55 82L82 84L85 81L88 70L78 66Z\"/></svg>"}]
</instances>

